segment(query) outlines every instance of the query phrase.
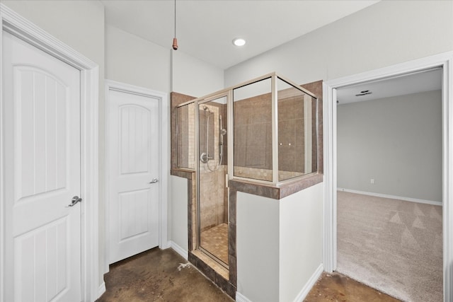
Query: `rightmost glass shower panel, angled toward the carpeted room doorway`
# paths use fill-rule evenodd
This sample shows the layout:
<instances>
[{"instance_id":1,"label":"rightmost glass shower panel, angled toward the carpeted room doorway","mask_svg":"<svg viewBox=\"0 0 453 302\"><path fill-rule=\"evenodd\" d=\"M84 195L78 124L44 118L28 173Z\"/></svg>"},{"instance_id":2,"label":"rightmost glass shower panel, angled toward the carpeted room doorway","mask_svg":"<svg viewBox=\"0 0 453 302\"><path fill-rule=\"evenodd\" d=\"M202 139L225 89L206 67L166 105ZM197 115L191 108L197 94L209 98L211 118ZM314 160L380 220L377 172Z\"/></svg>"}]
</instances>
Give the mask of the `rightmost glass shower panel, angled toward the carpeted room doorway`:
<instances>
[{"instance_id":1,"label":"rightmost glass shower panel, angled toward the carpeted room doorway","mask_svg":"<svg viewBox=\"0 0 453 302\"><path fill-rule=\"evenodd\" d=\"M316 98L277 78L278 180L317 169Z\"/></svg>"}]
</instances>

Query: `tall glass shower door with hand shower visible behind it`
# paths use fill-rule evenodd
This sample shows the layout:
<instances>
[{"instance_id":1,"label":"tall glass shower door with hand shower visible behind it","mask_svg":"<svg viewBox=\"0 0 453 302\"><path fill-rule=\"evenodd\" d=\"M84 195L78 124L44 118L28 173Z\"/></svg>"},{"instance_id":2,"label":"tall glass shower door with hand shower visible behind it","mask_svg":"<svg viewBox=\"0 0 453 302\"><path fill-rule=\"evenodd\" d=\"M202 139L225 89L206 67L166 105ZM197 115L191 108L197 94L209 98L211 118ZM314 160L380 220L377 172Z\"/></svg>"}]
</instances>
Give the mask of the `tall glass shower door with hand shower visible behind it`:
<instances>
[{"instance_id":1,"label":"tall glass shower door with hand shower visible behind it","mask_svg":"<svg viewBox=\"0 0 453 302\"><path fill-rule=\"evenodd\" d=\"M198 231L200 250L227 267L226 95L198 103Z\"/></svg>"}]
</instances>

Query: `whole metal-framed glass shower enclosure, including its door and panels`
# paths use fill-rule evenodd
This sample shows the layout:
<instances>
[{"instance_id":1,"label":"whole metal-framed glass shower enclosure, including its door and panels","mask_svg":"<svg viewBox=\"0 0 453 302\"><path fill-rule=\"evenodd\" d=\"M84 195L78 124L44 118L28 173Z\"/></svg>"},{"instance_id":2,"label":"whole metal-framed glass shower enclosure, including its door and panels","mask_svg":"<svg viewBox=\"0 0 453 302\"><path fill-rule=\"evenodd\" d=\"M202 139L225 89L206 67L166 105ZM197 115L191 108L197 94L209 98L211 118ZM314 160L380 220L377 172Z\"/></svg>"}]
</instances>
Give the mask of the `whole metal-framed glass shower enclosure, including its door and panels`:
<instances>
[{"instance_id":1,"label":"whole metal-framed glass shower enclosure, including its door and panels","mask_svg":"<svg viewBox=\"0 0 453 302\"><path fill-rule=\"evenodd\" d=\"M229 268L229 180L277 186L318 171L318 99L275 73L178 105L178 168L196 172L193 250ZM235 235L235 233L234 233Z\"/></svg>"}]
</instances>

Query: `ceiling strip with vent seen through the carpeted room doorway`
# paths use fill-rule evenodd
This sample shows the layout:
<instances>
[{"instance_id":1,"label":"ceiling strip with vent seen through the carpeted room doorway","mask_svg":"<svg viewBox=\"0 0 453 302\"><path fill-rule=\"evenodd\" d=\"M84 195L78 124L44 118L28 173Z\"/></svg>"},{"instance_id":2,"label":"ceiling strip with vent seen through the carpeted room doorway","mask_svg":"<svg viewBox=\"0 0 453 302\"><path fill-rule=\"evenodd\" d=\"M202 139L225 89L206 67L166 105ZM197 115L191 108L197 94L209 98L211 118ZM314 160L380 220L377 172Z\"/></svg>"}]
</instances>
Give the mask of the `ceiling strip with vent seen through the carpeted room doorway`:
<instances>
[{"instance_id":1,"label":"ceiling strip with vent seen through the carpeted room doorway","mask_svg":"<svg viewBox=\"0 0 453 302\"><path fill-rule=\"evenodd\" d=\"M365 100L377 100L398 95L408 95L425 91L434 91L442 88L442 69L430 69L423 72L415 72L391 79L383 79L361 83L354 86L337 89L338 105L354 103ZM362 91L371 94L356 96Z\"/></svg>"}]
</instances>

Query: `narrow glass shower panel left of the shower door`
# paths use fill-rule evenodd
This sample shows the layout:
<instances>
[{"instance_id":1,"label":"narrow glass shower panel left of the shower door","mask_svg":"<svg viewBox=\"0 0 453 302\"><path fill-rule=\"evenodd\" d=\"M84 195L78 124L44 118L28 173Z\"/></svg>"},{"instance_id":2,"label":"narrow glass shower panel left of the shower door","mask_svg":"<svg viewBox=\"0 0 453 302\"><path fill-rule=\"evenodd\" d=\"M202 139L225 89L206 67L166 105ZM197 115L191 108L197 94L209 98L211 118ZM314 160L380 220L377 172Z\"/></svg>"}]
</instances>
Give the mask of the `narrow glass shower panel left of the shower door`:
<instances>
[{"instance_id":1,"label":"narrow glass shower panel left of the shower door","mask_svg":"<svg viewBox=\"0 0 453 302\"><path fill-rule=\"evenodd\" d=\"M195 170L195 104L178 107L177 115L177 165Z\"/></svg>"}]
</instances>

